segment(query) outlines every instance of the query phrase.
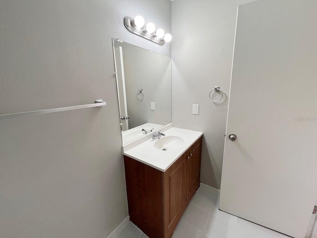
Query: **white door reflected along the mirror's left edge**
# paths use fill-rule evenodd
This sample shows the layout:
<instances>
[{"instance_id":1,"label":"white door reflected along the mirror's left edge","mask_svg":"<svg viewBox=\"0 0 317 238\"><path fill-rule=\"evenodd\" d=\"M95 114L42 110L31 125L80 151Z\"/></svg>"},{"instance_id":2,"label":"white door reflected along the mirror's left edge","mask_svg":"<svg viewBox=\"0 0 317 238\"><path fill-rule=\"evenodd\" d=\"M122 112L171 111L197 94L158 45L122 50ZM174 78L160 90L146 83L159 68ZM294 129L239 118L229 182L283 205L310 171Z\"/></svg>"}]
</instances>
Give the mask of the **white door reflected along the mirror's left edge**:
<instances>
[{"instance_id":1,"label":"white door reflected along the mirror's left edge","mask_svg":"<svg viewBox=\"0 0 317 238\"><path fill-rule=\"evenodd\" d=\"M117 90L118 90L118 99L119 99L121 130L125 131L129 129L129 119L128 119L127 96L125 91L123 53L122 53L121 46L114 48L114 62L115 62L115 68L117 72L116 79L117 79Z\"/></svg>"}]
</instances>

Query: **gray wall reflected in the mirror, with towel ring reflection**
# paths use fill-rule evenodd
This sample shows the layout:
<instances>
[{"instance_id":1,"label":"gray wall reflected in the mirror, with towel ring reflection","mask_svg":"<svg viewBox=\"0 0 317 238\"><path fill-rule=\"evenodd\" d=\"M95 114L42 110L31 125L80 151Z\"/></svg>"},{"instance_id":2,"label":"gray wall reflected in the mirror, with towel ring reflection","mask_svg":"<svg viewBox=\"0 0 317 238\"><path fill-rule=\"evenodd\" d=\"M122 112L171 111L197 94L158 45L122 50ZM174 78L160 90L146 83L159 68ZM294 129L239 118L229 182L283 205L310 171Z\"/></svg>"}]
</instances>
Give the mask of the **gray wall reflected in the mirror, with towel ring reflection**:
<instances>
[{"instance_id":1,"label":"gray wall reflected in the mirror, with towel ring reflection","mask_svg":"<svg viewBox=\"0 0 317 238\"><path fill-rule=\"evenodd\" d=\"M172 122L172 72L169 57L125 44L122 47L129 129L147 122ZM143 100L136 96L142 88ZM155 111L151 110L155 103Z\"/></svg>"}]
</instances>

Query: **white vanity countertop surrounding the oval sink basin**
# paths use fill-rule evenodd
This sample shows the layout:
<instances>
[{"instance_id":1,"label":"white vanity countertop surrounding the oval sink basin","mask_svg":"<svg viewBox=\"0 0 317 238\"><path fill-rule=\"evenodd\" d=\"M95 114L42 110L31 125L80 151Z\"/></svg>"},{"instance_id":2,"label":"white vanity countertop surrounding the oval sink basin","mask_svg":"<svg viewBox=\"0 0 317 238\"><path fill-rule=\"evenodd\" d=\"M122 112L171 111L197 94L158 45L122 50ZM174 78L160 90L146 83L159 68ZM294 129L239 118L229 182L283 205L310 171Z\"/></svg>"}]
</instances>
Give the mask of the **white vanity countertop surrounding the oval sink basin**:
<instances>
[{"instance_id":1,"label":"white vanity countertop surrounding the oval sink basin","mask_svg":"<svg viewBox=\"0 0 317 238\"><path fill-rule=\"evenodd\" d=\"M184 140L182 145L176 149L171 150L158 150L152 146L155 141L152 138L136 145L135 147L125 151L126 155L135 159L143 164L149 165L159 171L165 172L189 147L191 147L202 135L203 132L186 130L176 127L171 127L164 131L165 136L181 136ZM163 138L163 137L161 137Z\"/></svg>"}]
</instances>

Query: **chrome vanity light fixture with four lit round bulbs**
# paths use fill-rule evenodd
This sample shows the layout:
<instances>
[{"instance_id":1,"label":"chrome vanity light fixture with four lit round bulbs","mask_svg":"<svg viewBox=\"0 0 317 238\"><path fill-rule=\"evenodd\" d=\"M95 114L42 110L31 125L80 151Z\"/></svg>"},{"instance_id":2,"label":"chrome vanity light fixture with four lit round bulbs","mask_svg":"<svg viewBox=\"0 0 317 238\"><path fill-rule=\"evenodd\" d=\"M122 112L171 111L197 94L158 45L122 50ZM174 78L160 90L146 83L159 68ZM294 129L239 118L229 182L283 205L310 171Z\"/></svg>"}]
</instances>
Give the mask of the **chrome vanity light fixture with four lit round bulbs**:
<instances>
[{"instance_id":1,"label":"chrome vanity light fixture with four lit round bulbs","mask_svg":"<svg viewBox=\"0 0 317 238\"><path fill-rule=\"evenodd\" d=\"M170 42L172 36L170 34L165 34L163 29L158 29L155 31L155 25L152 22L144 25L145 21L142 16L136 16L134 19L131 17L124 18L124 26L131 33L141 36L149 41L164 45L165 42Z\"/></svg>"}]
</instances>

